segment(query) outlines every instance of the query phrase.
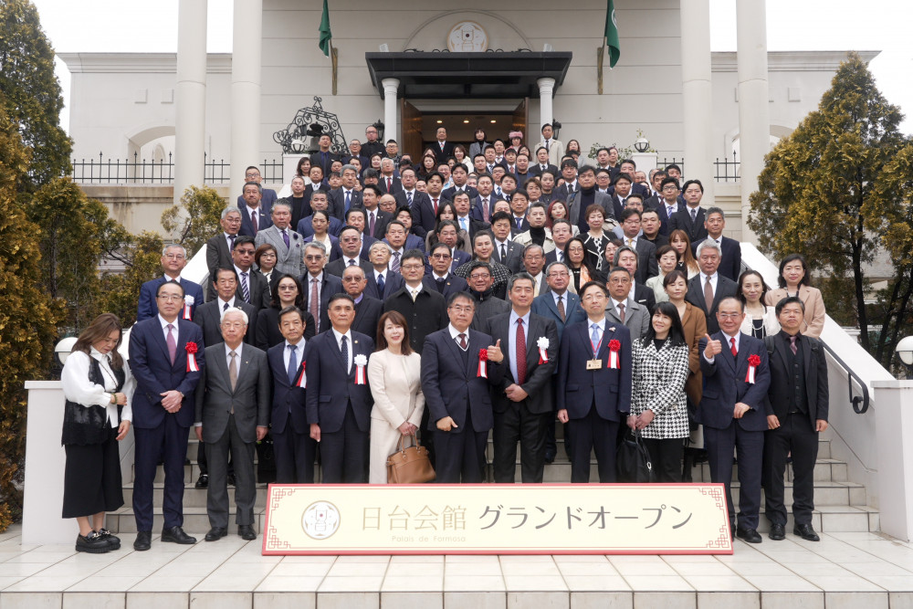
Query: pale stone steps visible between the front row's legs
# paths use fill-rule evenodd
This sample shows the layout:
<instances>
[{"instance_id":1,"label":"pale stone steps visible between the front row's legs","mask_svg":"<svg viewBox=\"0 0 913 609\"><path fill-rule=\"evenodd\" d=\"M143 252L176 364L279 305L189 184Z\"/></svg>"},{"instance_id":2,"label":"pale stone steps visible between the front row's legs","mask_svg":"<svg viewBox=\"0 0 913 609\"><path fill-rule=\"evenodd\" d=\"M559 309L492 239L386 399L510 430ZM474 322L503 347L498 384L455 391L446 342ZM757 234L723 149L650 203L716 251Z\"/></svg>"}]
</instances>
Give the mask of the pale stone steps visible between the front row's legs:
<instances>
[{"instance_id":1,"label":"pale stone steps visible between the front row's legs","mask_svg":"<svg viewBox=\"0 0 913 609\"><path fill-rule=\"evenodd\" d=\"M557 425L558 433L558 455L554 463L545 466L545 483L566 483L571 480L571 462L564 453L563 440L561 438L561 425ZM205 489L194 488L194 483L200 475L200 469L196 464L197 440L195 436L187 446L188 465L184 466L184 529L191 534L199 537L206 530L209 530L209 520L206 516L206 491ZM493 457L493 444L488 439L487 458L490 461ZM590 468L591 482L598 482L595 457L591 455L592 467ZM320 482L320 467L314 466L315 480ZM492 479L491 466L488 465L488 480ZM516 479L519 481L519 446L517 455L517 473ZM709 482L710 470L706 463L692 468L691 472L694 482ZM739 482L738 482L738 465L733 467L732 482L732 500L736 508L739 505ZM847 480L847 467L843 461L838 461L831 457L830 440L820 439L818 441L818 461L814 468L814 501L815 510L813 513L812 524L815 530L821 532L836 531L855 531L855 532L876 532L879 530L878 511L867 505L866 488L855 482ZM156 478L153 486L153 506L155 507L155 518L152 531L157 532L162 529L162 495L163 495L164 475L162 467L158 467ZM124 506L108 517L108 526L116 532L133 532L136 530L136 522L133 520L133 510L131 499L133 493L132 479L124 484ZM267 485L257 485L257 503L255 508L255 517L257 519L257 530L262 531L263 520L266 510ZM229 499L231 501L231 511L234 514L235 502L234 492L229 488ZM792 507L792 467L787 466L786 471L786 489L785 505L787 509ZM763 506L761 507L763 510ZM236 530L234 516L229 517L229 532ZM761 514L761 523L759 530L766 532L769 528L768 522ZM792 531L792 514L789 516L787 530Z\"/></svg>"}]
</instances>

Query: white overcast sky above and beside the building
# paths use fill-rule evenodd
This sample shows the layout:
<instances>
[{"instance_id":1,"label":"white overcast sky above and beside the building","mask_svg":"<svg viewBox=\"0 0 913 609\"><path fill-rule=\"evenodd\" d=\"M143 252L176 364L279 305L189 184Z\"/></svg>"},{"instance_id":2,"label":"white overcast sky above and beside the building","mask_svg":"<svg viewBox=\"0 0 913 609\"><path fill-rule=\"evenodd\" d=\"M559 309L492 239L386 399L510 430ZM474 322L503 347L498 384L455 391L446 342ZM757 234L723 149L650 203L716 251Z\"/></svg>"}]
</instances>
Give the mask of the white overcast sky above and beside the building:
<instances>
[{"instance_id":1,"label":"white overcast sky above and beside the building","mask_svg":"<svg viewBox=\"0 0 913 609\"><path fill-rule=\"evenodd\" d=\"M302 0L319 5L319 0ZM756 0L752 0L756 1ZM58 52L174 52L177 0L32 0L41 25ZM207 47L231 51L232 0L209 0ZM710 36L715 51L736 50L736 3L710 0ZM767 0L769 50L880 50L870 68L891 103L913 113L913 3L901 0ZM621 20L620 20L621 21ZM316 27L316 25L315 25ZM624 21L622 61L624 61ZM58 78L68 100L69 75L58 60ZM61 117L68 127L68 110ZM902 125L913 132L913 119Z\"/></svg>"}]
</instances>

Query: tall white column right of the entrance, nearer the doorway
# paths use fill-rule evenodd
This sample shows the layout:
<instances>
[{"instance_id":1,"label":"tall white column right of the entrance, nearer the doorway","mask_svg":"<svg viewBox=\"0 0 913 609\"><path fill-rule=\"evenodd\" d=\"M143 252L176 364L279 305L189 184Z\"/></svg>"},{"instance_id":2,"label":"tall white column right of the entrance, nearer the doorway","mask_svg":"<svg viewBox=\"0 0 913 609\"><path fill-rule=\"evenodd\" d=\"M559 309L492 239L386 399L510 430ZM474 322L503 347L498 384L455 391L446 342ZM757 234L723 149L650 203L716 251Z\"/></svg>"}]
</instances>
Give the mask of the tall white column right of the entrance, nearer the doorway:
<instances>
[{"instance_id":1,"label":"tall white column right of the entrance, nearer the doorway","mask_svg":"<svg viewBox=\"0 0 913 609\"><path fill-rule=\"evenodd\" d=\"M682 109L685 178L704 184L703 205L713 204L713 155L710 152L713 91L710 87L710 2L681 0Z\"/></svg>"}]
</instances>

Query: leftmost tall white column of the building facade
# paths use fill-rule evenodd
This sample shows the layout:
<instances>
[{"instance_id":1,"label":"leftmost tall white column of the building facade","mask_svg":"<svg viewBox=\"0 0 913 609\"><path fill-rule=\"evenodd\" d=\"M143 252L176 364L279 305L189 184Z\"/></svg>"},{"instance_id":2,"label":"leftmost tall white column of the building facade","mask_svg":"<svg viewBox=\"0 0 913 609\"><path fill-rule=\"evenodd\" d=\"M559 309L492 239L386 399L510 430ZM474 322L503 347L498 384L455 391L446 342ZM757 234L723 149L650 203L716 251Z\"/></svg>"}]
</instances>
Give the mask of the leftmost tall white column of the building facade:
<instances>
[{"instance_id":1,"label":"leftmost tall white column of the building facade","mask_svg":"<svg viewBox=\"0 0 913 609\"><path fill-rule=\"evenodd\" d=\"M203 185L206 140L206 0L181 0L177 26L174 205Z\"/></svg>"}]
</instances>

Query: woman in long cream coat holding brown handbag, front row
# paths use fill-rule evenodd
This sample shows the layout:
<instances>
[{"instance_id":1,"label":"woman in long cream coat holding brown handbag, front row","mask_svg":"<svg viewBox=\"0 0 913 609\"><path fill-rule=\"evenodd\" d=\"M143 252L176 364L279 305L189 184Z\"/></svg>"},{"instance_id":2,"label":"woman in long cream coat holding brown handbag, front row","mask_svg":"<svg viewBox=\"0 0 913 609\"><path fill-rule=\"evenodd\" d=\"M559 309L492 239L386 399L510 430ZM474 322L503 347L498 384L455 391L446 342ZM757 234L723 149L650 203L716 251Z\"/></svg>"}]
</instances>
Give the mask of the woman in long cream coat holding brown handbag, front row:
<instances>
[{"instance_id":1,"label":"woman in long cream coat holding brown handbag, front row","mask_svg":"<svg viewBox=\"0 0 913 609\"><path fill-rule=\"evenodd\" d=\"M371 484L386 484L387 457L396 452L401 437L415 436L425 410L422 358L409 347L407 326L401 313L384 313L377 322L377 351L368 361L368 383L374 397Z\"/></svg>"}]
</instances>

